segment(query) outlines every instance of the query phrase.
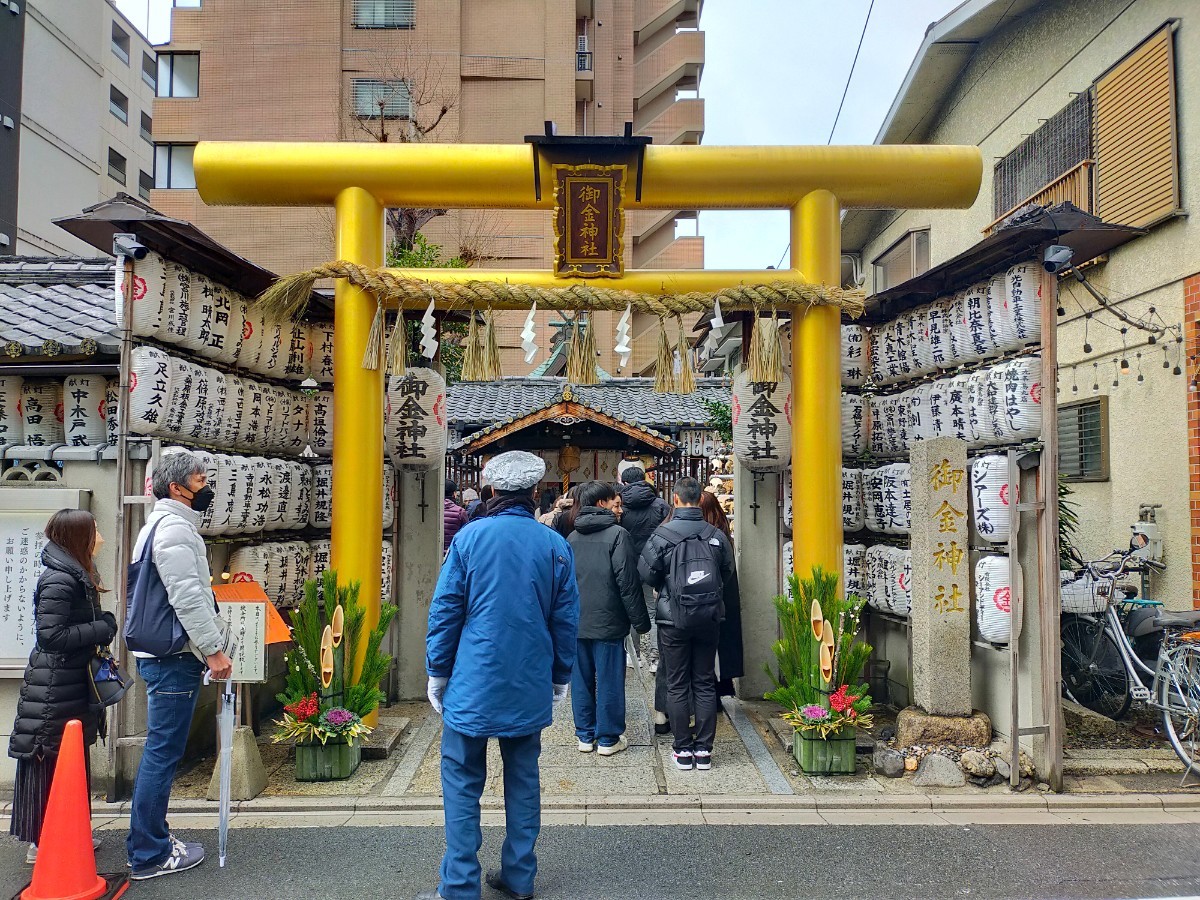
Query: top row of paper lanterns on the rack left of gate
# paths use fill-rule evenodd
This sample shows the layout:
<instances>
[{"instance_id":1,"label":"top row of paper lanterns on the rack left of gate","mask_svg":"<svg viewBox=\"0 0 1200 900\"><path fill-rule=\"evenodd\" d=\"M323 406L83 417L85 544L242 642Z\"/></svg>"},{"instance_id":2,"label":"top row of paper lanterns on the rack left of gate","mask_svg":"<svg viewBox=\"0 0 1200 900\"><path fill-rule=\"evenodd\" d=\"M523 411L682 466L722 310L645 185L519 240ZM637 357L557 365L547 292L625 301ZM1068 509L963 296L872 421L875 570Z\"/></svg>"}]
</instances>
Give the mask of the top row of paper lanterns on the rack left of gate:
<instances>
[{"instance_id":1,"label":"top row of paper lanterns on the rack left of gate","mask_svg":"<svg viewBox=\"0 0 1200 900\"><path fill-rule=\"evenodd\" d=\"M124 328L116 266L116 319ZM149 253L134 264L132 331L205 359L282 380L334 380L334 326L283 322L236 290Z\"/></svg>"}]
</instances>

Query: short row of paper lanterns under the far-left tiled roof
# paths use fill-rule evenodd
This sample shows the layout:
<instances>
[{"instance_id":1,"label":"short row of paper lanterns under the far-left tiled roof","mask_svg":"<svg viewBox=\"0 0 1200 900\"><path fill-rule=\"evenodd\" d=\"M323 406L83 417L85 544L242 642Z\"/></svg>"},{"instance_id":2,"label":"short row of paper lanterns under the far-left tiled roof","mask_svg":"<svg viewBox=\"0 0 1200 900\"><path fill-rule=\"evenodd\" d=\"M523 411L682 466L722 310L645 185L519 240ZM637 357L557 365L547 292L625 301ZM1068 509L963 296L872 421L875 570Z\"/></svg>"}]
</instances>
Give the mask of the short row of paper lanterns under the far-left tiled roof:
<instances>
[{"instance_id":1,"label":"short row of paper lanterns under the far-left tiled roof","mask_svg":"<svg viewBox=\"0 0 1200 900\"><path fill-rule=\"evenodd\" d=\"M0 376L0 446L116 443L116 380Z\"/></svg>"}]
</instances>

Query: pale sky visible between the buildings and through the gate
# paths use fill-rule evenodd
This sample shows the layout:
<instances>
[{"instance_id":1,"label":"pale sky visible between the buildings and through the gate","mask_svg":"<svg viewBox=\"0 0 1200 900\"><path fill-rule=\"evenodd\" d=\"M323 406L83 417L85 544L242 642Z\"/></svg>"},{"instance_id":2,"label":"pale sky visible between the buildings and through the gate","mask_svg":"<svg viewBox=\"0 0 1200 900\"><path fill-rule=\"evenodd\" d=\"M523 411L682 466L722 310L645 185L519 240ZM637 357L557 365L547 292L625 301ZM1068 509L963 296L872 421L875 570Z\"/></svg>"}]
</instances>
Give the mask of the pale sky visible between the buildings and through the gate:
<instances>
[{"instance_id":1,"label":"pale sky visible between the buildings and through the gate","mask_svg":"<svg viewBox=\"0 0 1200 900\"><path fill-rule=\"evenodd\" d=\"M168 38L170 0L115 0L155 43ZM960 0L875 0L834 144L870 144L925 29ZM870 0L706 0L704 143L824 144ZM149 18L148 18L149 16ZM682 234L691 234L684 223ZM782 211L702 212L709 269L776 265ZM786 260L785 260L786 263Z\"/></svg>"}]
</instances>

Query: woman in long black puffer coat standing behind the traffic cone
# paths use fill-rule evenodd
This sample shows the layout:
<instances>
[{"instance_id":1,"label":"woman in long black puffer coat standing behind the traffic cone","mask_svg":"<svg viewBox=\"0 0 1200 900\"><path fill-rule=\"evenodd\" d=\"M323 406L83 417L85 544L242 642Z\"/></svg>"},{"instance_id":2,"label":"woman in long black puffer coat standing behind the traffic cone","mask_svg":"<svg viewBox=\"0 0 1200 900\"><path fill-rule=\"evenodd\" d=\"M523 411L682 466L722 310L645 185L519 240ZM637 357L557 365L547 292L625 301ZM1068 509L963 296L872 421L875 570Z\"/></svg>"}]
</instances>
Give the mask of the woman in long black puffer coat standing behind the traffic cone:
<instances>
[{"instance_id":1,"label":"woman in long black puffer coat standing behind the traffic cone","mask_svg":"<svg viewBox=\"0 0 1200 900\"><path fill-rule=\"evenodd\" d=\"M104 709L94 700L89 662L97 647L116 636L116 618L100 607L102 588L92 558L103 538L96 520L84 510L60 510L47 523L46 539L44 569L34 590L37 644L29 655L8 740L8 756L17 760L10 832L29 841L28 863L37 859L66 724L83 722L88 746L103 733Z\"/></svg>"}]
</instances>

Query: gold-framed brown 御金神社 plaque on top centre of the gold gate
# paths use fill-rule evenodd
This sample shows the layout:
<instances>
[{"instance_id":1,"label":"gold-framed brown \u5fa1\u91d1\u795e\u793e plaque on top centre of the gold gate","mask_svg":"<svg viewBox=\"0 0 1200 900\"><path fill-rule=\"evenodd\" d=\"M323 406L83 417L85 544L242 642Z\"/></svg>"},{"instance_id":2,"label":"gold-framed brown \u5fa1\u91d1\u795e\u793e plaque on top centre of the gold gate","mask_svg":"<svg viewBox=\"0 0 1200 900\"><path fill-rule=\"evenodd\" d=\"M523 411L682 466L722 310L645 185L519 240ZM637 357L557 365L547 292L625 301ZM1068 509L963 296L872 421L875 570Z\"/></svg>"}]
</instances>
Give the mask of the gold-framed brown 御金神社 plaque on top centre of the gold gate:
<instances>
[{"instance_id":1,"label":"gold-framed brown \u5fa1\u91d1\u795e\u793e plaque on top centre of the gold gate","mask_svg":"<svg viewBox=\"0 0 1200 900\"><path fill-rule=\"evenodd\" d=\"M625 166L554 167L554 274L611 277L624 271Z\"/></svg>"}]
</instances>

